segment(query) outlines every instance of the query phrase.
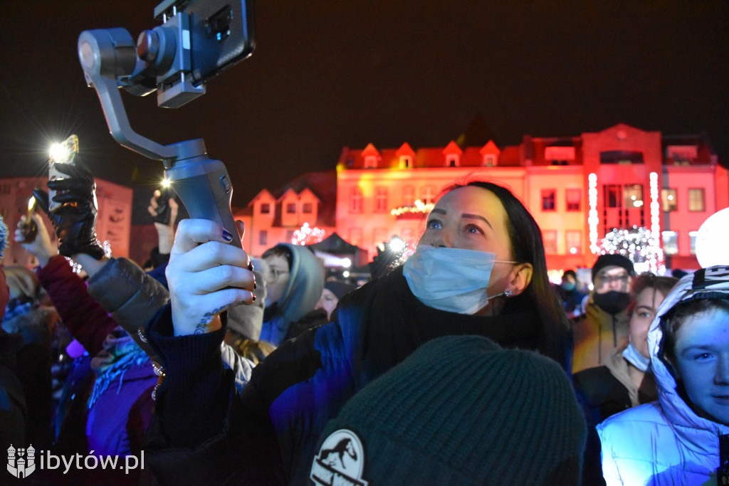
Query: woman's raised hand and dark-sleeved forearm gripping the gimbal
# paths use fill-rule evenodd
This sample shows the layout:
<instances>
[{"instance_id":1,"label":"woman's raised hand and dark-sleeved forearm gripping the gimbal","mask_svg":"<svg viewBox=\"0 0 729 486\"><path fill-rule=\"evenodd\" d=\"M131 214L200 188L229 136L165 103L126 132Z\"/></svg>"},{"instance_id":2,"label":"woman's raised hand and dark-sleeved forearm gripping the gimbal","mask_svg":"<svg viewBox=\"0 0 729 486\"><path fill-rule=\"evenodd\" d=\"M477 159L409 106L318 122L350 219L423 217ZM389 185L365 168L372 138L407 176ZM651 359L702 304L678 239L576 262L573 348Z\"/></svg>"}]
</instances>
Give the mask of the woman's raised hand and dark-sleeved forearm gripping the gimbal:
<instances>
[{"instance_id":1,"label":"woman's raised hand and dark-sleeved forearm gripping the gimbal","mask_svg":"<svg viewBox=\"0 0 729 486\"><path fill-rule=\"evenodd\" d=\"M246 252L228 244L233 238L208 220L180 222L166 270L171 305L145 331L165 367L155 413L173 447L219 434L235 391L222 367L220 314L252 303L255 282Z\"/></svg>"}]
</instances>

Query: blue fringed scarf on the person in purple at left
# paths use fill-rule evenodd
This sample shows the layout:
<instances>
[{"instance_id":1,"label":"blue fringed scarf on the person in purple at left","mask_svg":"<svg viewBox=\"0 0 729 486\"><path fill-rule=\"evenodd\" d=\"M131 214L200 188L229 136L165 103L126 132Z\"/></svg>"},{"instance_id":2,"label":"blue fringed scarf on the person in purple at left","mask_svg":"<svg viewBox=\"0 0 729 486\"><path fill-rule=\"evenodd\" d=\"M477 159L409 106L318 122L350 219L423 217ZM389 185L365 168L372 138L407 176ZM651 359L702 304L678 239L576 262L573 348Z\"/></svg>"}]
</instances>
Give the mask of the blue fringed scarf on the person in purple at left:
<instances>
[{"instance_id":1,"label":"blue fringed scarf on the person in purple at left","mask_svg":"<svg viewBox=\"0 0 729 486\"><path fill-rule=\"evenodd\" d=\"M109 388L114 380L119 380L117 394L122 388L124 374L130 367L144 364L149 356L134 342L132 337L121 327L117 327L104 339L104 350L91 360L96 380L88 399L88 408L93 407L99 396Z\"/></svg>"}]
</instances>

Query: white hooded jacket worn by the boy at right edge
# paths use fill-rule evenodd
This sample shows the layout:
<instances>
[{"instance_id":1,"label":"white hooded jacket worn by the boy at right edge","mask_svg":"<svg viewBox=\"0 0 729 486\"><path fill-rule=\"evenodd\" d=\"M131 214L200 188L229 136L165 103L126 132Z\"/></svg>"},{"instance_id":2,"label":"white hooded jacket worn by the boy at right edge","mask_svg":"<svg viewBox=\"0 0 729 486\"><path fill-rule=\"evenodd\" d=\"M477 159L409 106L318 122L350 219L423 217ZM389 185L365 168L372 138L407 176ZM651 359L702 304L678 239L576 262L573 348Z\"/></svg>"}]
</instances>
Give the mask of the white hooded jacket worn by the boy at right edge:
<instances>
[{"instance_id":1,"label":"white hooded jacket worn by the boy at right edge","mask_svg":"<svg viewBox=\"0 0 729 486\"><path fill-rule=\"evenodd\" d=\"M597 431L608 485L703 485L716 481L719 436L729 427L701 418L682 399L663 361L661 321L679 302L729 299L729 267L685 275L666 296L648 331L658 401L613 415ZM713 484L716 484L714 482Z\"/></svg>"}]
</instances>

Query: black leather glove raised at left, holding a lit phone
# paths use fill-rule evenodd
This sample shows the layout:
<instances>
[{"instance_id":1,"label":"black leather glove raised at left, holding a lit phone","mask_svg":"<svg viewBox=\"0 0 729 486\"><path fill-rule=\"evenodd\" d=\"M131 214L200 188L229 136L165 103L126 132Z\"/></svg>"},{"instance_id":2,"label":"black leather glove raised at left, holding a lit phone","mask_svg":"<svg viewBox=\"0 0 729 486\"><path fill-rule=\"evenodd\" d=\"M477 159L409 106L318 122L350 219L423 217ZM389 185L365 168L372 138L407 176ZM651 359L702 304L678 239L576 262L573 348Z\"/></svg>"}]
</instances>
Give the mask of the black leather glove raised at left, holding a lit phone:
<instances>
[{"instance_id":1,"label":"black leather glove raised at left, holding a lit phone","mask_svg":"<svg viewBox=\"0 0 729 486\"><path fill-rule=\"evenodd\" d=\"M48 181L48 188L55 190L54 203L58 208L48 211L48 194L34 189L33 195L44 213L48 215L58 236L58 253L72 256L85 253L99 260L104 249L96 242L96 184L93 175L81 162L55 164L57 171L69 177Z\"/></svg>"}]
</instances>

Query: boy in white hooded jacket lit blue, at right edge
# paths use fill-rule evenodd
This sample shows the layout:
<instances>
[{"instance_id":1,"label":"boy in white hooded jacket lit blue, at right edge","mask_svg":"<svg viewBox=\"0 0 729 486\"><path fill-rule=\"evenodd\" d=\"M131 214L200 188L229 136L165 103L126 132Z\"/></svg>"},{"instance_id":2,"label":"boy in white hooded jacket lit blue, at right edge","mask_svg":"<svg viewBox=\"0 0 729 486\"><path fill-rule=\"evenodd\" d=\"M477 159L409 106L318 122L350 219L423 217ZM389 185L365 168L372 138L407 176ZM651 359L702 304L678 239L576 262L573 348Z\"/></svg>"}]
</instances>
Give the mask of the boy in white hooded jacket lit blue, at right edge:
<instances>
[{"instance_id":1,"label":"boy in white hooded jacket lit blue, at right edge","mask_svg":"<svg viewBox=\"0 0 729 486\"><path fill-rule=\"evenodd\" d=\"M648 348L658 401L597 426L607 484L727 484L729 267L685 275L658 308Z\"/></svg>"}]
</instances>

